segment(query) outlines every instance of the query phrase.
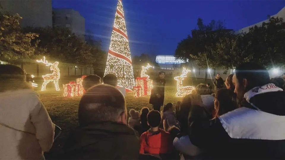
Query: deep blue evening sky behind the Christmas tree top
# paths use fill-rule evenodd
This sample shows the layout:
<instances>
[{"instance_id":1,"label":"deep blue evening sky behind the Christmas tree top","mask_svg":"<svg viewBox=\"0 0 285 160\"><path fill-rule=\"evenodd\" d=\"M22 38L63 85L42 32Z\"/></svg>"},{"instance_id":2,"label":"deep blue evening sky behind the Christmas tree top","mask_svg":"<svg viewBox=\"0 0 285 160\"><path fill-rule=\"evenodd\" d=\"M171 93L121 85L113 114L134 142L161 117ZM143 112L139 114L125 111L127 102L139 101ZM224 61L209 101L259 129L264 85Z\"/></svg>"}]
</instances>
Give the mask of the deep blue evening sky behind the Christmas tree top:
<instances>
[{"instance_id":1,"label":"deep blue evening sky behind the Christmas tree top","mask_svg":"<svg viewBox=\"0 0 285 160\"><path fill-rule=\"evenodd\" d=\"M109 48L116 5L116 0L53 0L54 8L79 11L86 30L102 41L104 50ZM227 28L238 30L275 15L284 6L285 1L123 0L132 55L173 55L178 42L196 28L198 17L206 24L225 20Z\"/></svg>"}]
</instances>

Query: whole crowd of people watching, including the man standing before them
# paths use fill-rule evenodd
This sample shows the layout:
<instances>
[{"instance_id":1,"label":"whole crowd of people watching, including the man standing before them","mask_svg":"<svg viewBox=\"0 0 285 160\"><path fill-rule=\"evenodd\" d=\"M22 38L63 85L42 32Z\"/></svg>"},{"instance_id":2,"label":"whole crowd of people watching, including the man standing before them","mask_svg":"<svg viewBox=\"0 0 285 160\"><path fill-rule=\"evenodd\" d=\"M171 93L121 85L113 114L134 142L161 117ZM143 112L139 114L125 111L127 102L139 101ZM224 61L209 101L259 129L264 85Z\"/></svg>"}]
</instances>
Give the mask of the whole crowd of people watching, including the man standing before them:
<instances>
[{"instance_id":1,"label":"whole crowd of people watching, including the man standing before them","mask_svg":"<svg viewBox=\"0 0 285 160\"><path fill-rule=\"evenodd\" d=\"M243 63L215 89L199 84L182 101L164 103L165 73L155 80L153 109L131 109L114 75L83 79L79 126L61 159L285 159L284 79ZM284 74L285 77L285 74ZM0 159L44 159L54 124L26 73L0 65ZM224 84L225 87L224 88ZM11 118L12 117L12 118Z\"/></svg>"}]
</instances>

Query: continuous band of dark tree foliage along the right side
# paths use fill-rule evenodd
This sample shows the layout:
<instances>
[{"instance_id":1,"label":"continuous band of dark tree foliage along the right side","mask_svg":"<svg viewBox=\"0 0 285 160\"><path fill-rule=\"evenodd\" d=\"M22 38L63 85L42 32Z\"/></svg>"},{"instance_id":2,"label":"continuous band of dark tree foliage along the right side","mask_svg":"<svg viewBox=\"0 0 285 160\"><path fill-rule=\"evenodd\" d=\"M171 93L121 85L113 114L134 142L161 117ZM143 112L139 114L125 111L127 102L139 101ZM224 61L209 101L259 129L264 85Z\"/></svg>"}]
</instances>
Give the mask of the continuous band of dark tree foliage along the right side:
<instances>
[{"instance_id":1,"label":"continuous band of dark tree foliage along the right side","mask_svg":"<svg viewBox=\"0 0 285 160\"><path fill-rule=\"evenodd\" d=\"M198 29L178 43L177 58L190 58L210 68L233 68L240 63L254 61L268 68L284 66L285 23L282 18L271 17L248 33L235 34L222 23L204 25L198 19ZM214 26L214 27L212 27Z\"/></svg>"}]
</instances>

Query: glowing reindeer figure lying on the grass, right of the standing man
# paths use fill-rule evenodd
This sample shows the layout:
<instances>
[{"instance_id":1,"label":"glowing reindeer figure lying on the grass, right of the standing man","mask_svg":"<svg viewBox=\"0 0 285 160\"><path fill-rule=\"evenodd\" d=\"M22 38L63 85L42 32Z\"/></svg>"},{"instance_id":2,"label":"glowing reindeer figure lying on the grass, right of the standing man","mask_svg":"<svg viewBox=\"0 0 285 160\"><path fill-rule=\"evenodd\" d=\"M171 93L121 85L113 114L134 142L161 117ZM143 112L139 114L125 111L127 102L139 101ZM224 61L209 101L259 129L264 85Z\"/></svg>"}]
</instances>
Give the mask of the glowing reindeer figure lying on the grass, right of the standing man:
<instances>
[{"instance_id":1,"label":"glowing reindeer figure lying on the grass, right of the standing man","mask_svg":"<svg viewBox=\"0 0 285 160\"><path fill-rule=\"evenodd\" d=\"M180 76L174 77L174 79L177 81L176 97L184 97L186 95L189 95L195 89L193 86L183 87L182 81L184 80L184 77L187 77L186 74L188 72L190 72L190 70L183 67L182 74Z\"/></svg>"}]
</instances>

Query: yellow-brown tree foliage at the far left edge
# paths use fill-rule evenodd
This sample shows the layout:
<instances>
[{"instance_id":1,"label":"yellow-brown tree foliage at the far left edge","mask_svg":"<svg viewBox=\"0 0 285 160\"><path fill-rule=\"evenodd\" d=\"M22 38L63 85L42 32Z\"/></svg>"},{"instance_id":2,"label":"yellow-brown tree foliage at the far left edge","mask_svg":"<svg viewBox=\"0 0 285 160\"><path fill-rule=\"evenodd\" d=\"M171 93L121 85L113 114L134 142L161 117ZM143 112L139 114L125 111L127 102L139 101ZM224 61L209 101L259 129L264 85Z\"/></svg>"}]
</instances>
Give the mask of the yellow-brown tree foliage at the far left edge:
<instances>
[{"instance_id":1,"label":"yellow-brown tree foliage at the far left edge","mask_svg":"<svg viewBox=\"0 0 285 160\"><path fill-rule=\"evenodd\" d=\"M32 32L24 33L20 28L21 17L0 12L0 58L1 60L17 60L34 55L39 35ZM33 45L31 41L35 40Z\"/></svg>"}]
</instances>

